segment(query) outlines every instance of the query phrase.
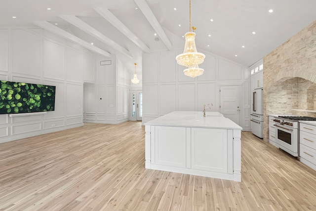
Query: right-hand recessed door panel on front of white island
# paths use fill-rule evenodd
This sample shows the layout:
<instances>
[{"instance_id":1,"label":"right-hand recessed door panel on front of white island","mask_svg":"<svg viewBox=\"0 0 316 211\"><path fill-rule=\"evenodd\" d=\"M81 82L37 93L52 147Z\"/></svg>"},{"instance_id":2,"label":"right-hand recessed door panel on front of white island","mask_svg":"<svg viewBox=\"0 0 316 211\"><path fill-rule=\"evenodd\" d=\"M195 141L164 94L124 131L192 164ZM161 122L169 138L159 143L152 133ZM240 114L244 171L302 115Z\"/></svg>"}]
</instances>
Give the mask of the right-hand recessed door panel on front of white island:
<instances>
[{"instance_id":1,"label":"right-hand recessed door panel on front of white island","mask_svg":"<svg viewBox=\"0 0 316 211\"><path fill-rule=\"evenodd\" d=\"M212 172L233 173L233 141L227 129L191 129L191 168ZM231 138L232 139L232 138ZM228 153L228 151L231 151Z\"/></svg>"}]
</instances>

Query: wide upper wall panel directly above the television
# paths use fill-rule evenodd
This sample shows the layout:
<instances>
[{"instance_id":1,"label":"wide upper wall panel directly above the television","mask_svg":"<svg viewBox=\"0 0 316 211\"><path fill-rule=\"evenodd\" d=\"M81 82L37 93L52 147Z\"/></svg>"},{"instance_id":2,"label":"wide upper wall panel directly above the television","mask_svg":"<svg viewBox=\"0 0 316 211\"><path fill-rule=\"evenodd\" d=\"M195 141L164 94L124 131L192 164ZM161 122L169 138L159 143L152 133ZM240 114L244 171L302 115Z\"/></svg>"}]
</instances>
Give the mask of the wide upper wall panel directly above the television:
<instances>
[{"instance_id":1,"label":"wide upper wall panel directly above the television","mask_svg":"<svg viewBox=\"0 0 316 211\"><path fill-rule=\"evenodd\" d=\"M41 38L21 29L12 29L12 73L42 75Z\"/></svg>"}]
</instances>

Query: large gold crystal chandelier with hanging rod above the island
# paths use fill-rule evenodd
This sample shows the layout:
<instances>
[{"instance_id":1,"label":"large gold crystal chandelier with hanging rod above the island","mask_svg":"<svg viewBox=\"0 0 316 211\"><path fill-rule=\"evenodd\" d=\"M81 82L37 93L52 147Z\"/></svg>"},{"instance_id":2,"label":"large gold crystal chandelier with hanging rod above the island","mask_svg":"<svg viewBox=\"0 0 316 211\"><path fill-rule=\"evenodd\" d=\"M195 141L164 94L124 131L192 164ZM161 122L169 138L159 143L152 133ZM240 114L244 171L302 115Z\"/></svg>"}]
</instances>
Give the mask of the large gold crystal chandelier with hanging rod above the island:
<instances>
[{"instance_id":1,"label":"large gold crystal chandelier with hanging rod above the island","mask_svg":"<svg viewBox=\"0 0 316 211\"><path fill-rule=\"evenodd\" d=\"M198 68L198 65L204 61L205 55L203 53L197 52L195 37L196 33L194 30L197 28L192 27L193 32L191 32L191 0L190 0L190 31L185 34L186 42L184 46L183 53L176 57L179 65L188 67L185 69L184 75L195 78L203 74L204 70Z\"/></svg>"}]
</instances>

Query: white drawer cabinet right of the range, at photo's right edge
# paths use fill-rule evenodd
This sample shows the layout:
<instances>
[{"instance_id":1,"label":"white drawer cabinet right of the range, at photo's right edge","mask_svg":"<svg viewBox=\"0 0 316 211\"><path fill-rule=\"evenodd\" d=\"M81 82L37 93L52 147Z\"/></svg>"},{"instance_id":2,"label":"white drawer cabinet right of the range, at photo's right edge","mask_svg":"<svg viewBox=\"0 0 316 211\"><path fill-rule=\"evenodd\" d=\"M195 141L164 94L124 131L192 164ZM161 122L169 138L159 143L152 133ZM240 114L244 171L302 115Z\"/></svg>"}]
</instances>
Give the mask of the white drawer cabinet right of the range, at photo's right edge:
<instances>
[{"instance_id":1,"label":"white drawer cabinet right of the range, at photo's right edge","mask_svg":"<svg viewBox=\"0 0 316 211\"><path fill-rule=\"evenodd\" d=\"M300 161L316 170L316 126L300 123Z\"/></svg>"}]
</instances>

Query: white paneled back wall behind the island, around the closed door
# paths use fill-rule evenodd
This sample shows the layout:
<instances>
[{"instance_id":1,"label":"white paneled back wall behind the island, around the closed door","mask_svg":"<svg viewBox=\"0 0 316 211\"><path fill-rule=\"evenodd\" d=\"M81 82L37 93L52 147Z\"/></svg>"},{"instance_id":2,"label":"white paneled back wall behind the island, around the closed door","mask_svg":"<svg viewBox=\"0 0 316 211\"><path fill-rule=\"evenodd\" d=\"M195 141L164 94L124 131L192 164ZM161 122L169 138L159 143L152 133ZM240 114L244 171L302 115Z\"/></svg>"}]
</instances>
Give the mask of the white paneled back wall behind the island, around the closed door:
<instances>
[{"instance_id":1,"label":"white paneled back wall behind the island, around the closed door","mask_svg":"<svg viewBox=\"0 0 316 211\"><path fill-rule=\"evenodd\" d=\"M199 65L203 75L195 79L183 74L185 67L175 57L182 53L159 51L143 54L143 122L172 111L202 111L203 104L213 103L219 111L221 85L240 85L240 126L250 130L249 69L236 62L205 53Z\"/></svg>"}]
</instances>

